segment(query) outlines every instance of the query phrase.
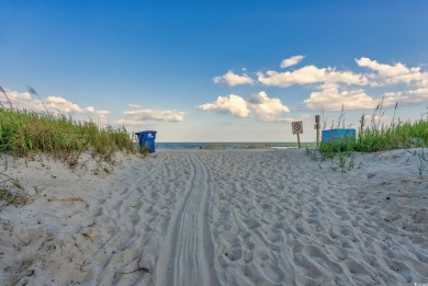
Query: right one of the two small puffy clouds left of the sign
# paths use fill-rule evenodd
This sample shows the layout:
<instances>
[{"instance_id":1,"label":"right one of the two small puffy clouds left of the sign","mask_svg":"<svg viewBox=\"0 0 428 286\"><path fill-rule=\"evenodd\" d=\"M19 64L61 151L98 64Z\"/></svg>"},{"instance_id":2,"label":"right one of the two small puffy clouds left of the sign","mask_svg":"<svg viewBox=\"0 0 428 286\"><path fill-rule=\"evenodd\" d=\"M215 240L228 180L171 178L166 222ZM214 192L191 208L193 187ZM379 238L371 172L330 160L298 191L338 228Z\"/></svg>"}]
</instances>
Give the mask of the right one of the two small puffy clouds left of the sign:
<instances>
[{"instance_id":1,"label":"right one of the two small puffy clouds left of the sign","mask_svg":"<svg viewBox=\"0 0 428 286\"><path fill-rule=\"evenodd\" d=\"M282 112L290 112L289 107L281 103L281 100L269 99L264 91L254 94L248 100L248 105L266 121L273 121Z\"/></svg>"}]
</instances>

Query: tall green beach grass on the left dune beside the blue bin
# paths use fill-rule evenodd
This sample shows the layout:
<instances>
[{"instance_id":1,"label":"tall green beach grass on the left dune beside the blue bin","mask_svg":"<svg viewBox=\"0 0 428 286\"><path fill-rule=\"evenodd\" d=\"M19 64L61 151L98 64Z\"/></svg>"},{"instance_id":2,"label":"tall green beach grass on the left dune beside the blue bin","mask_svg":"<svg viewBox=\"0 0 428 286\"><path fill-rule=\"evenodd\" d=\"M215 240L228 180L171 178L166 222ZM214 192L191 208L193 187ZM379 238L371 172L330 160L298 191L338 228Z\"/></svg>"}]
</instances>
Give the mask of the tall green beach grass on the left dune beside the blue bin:
<instances>
[{"instance_id":1,"label":"tall green beach grass on the left dune beside the blue bin","mask_svg":"<svg viewBox=\"0 0 428 286\"><path fill-rule=\"evenodd\" d=\"M0 153L29 157L42 152L72 164L85 151L112 162L117 151L140 150L124 127L100 127L64 114L0 107Z\"/></svg>"}]
</instances>

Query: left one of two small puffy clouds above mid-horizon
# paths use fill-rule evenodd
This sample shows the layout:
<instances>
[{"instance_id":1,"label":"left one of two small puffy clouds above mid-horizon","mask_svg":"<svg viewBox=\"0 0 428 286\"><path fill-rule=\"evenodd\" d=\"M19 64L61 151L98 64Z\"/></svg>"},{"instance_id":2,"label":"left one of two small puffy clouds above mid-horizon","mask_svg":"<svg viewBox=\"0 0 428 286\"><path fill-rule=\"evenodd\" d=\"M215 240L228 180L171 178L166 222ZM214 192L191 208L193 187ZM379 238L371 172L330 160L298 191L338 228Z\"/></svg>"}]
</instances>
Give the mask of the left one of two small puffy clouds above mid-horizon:
<instances>
[{"instance_id":1,"label":"left one of two small puffy clouds above mid-horizon","mask_svg":"<svg viewBox=\"0 0 428 286\"><path fill-rule=\"evenodd\" d=\"M216 111L222 113L230 113L237 117L248 117L250 110L247 106L247 102L235 94L228 96L218 96L214 103L205 103L199 106L202 111Z\"/></svg>"}]
</instances>

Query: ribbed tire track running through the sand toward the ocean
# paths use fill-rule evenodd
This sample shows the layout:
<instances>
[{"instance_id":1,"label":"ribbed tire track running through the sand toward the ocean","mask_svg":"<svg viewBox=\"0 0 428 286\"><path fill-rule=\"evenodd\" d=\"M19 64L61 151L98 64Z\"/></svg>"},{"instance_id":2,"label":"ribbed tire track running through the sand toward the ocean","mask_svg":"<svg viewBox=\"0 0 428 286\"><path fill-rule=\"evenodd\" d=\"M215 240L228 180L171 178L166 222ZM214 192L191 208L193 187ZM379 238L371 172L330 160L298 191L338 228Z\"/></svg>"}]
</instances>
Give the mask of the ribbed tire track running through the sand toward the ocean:
<instances>
[{"instance_id":1,"label":"ribbed tire track running through the sand toward the ocean","mask_svg":"<svg viewBox=\"0 0 428 286\"><path fill-rule=\"evenodd\" d=\"M210 181L206 165L189 152L191 180L180 209L171 217L156 266L156 285L219 285L207 222Z\"/></svg>"}]
</instances>

